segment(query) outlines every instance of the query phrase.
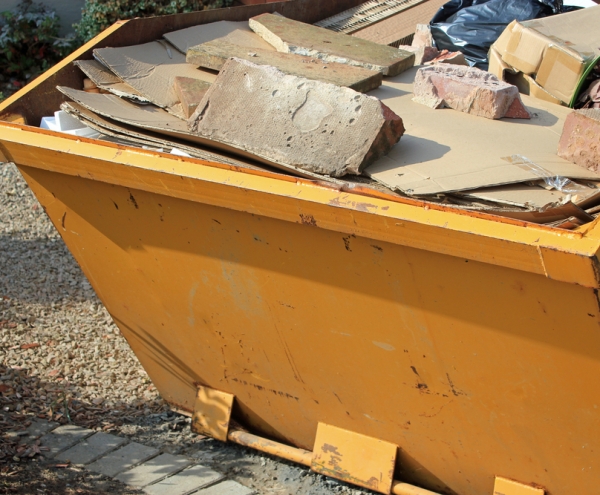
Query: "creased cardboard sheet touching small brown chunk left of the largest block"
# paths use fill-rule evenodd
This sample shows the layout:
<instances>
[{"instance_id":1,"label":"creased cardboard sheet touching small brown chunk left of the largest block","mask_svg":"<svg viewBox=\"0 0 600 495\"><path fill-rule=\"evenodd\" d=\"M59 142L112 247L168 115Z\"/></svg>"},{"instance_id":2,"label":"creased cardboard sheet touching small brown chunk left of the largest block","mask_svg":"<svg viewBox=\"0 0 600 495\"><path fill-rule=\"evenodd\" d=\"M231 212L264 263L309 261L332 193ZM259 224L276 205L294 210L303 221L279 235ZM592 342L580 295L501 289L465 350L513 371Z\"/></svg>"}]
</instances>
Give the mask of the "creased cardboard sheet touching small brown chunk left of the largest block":
<instances>
[{"instance_id":1,"label":"creased cardboard sheet touching small brown chunk left of the largest block","mask_svg":"<svg viewBox=\"0 0 600 495\"><path fill-rule=\"evenodd\" d=\"M100 48L94 56L152 103L183 118L175 92L175 77L213 82L214 74L186 63L185 55L167 42L153 41L122 48Z\"/></svg>"}]
</instances>

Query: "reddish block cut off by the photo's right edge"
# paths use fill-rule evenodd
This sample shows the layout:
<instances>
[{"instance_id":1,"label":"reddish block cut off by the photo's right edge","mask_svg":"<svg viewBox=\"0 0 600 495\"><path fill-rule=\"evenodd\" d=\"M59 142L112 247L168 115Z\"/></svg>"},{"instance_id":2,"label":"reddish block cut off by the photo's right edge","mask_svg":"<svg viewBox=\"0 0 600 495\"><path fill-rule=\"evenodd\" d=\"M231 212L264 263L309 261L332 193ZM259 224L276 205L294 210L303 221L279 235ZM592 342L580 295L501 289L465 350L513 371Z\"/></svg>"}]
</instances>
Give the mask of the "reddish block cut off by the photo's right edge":
<instances>
[{"instance_id":1,"label":"reddish block cut off by the photo's right edge","mask_svg":"<svg viewBox=\"0 0 600 495\"><path fill-rule=\"evenodd\" d=\"M600 109L571 112L558 143L558 156L577 165L600 172Z\"/></svg>"}]
</instances>

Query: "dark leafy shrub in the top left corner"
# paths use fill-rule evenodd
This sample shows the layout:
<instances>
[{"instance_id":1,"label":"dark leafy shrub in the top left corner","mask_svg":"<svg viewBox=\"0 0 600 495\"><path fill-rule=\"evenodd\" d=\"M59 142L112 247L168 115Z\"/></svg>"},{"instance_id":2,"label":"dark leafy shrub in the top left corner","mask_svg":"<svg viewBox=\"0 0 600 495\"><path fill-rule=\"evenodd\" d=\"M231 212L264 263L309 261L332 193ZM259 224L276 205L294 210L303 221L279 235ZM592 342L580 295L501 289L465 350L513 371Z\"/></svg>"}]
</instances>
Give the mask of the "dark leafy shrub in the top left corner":
<instances>
[{"instance_id":1,"label":"dark leafy shrub in the top left corner","mask_svg":"<svg viewBox=\"0 0 600 495\"><path fill-rule=\"evenodd\" d=\"M0 73L25 81L52 67L73 49L59 30L56 12L32 0L0 12Z\"/></svg>"}]
</instances>

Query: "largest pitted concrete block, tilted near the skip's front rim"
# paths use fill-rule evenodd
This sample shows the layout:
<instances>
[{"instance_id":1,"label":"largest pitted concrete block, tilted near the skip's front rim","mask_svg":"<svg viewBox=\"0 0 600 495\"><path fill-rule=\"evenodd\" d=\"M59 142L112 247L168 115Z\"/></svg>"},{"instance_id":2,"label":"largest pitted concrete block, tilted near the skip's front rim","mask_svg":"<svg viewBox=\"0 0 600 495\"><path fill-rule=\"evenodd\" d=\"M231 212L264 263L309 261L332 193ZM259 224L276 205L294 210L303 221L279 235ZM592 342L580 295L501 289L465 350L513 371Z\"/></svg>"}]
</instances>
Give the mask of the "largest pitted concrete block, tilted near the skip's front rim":
<instances>
[{"instance_id":1,"label":"largest pitted concrete block, tilted near the skip's front rim","mask_svg":"<svg viewBox=\"0 0 600 495\"><path fill-rule=\"evenodd\" d=\"M188 122L215 146L292 170L360 174L404 132L377 98L229 59Z\"/></svg>"}]
</instances>

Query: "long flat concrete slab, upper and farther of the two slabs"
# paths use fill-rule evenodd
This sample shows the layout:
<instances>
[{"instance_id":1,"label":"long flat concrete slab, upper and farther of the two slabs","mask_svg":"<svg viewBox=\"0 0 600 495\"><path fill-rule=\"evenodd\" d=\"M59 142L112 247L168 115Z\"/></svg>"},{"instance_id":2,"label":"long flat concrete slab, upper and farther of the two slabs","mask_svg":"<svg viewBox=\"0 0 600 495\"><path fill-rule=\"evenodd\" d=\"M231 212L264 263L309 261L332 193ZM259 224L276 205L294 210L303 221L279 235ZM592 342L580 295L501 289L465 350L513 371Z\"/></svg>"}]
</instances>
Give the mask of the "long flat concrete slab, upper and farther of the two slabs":
<instances>
[{"instance_id":1,"label":"long flat concrete slab, upper and farther of the two slabs","mask_svg":"<svg viewBox=\"0 0 600 495\"><path fill-rule=\"evenodd\" d=\"M279 52L355 65L384 76L400 74L414 63L412 53L279 15L261 14L250 19L249 24Z\"/></svg>"}]
</instances>

